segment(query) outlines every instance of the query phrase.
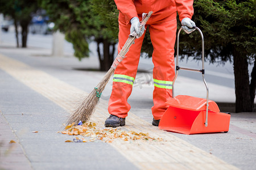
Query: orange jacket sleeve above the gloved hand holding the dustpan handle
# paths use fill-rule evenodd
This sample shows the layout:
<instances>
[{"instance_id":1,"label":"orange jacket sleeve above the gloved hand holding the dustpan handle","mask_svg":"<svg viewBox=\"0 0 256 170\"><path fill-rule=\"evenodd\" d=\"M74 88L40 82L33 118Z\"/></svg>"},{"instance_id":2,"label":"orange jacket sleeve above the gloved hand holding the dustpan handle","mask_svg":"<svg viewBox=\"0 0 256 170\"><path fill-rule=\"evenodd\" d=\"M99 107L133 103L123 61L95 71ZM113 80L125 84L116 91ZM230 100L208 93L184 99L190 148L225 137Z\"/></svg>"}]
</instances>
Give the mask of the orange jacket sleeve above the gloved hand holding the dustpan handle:
<instances>
[{"instance_id":1,"label":"orange jacket sleeve above the gloved hand holding the dustpan handle","mask_svg":"<svg viewBox=\"0 0 256 170\"><path fill-rule=\"evenodd\" d=\"M184 18L192 18L194 13L193 0L175 0L175 3L180 22Z\"/></svg>"}]
</instances>

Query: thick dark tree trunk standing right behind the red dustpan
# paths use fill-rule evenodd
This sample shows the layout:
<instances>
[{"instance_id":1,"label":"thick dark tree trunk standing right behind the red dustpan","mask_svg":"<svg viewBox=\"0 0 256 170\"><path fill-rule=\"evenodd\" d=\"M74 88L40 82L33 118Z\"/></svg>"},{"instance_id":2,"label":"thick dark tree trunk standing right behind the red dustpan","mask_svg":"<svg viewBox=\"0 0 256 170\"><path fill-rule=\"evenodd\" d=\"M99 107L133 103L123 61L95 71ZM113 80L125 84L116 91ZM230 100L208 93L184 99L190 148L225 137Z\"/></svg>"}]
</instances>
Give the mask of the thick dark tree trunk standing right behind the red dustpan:
<instances>
[{"instance_id":1,"label":"thick dark tree trunk standing right behind the red dustpan","mask_svg":"<svg viewBox=\"0 0 256 170\"><path fill-rule=\"evenodd\" d=\"M242 55L236 50L236 46L233 48L233 57L236 88L236 112L251 112L248 61L245 55Z\"/></svg>"}]
</instances>

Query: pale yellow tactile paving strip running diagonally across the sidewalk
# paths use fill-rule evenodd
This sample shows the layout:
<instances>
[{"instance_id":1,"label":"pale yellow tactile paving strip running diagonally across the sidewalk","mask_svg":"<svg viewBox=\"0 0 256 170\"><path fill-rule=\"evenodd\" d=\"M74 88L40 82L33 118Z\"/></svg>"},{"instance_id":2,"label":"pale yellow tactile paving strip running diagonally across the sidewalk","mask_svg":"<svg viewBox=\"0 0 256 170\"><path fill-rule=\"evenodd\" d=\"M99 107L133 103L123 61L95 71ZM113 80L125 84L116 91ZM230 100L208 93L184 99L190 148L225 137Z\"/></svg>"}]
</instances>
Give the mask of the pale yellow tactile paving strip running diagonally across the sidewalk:
<instances>
[{"instance_id":1,"label":"pale yellow tactile paving strip running diagonally across the sidewalk","mask_svg":"<svg viewBox=\"0 0 256 170\"><path fill-rule=\"evenodd\" d=\"M0 69L68 112L74 107L76 94L85 93L43 71L1 54ZM104 125L109 116L107 107L107 101L100 100L91 120ZM143 131L151 137L164 139L164 142L117 140L110 144L140 169L238 169L166 131L159 130L133 113L129 113L123 129Z\"/></svg>"}]
</instances>

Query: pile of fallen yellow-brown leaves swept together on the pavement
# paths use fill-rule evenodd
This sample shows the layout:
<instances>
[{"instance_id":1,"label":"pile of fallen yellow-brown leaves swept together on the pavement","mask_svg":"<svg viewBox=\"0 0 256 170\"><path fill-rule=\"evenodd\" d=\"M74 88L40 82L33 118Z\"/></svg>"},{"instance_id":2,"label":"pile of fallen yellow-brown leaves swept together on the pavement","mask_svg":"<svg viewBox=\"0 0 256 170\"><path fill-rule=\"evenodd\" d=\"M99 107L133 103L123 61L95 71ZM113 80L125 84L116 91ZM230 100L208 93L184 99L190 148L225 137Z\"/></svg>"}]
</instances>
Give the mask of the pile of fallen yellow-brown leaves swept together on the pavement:
<instances>
[{"instance_id":1,"label":"pile of fallen yellow-brown leaves swept together on the pavement","mask_svg":"<svg viewBox=\"0 0 256 170\"><path fill-rule=\"evenodd\" d=\"M58 131L58 133L62 134L79 135L73 141L65 142L94 142L96 139L107 143L112 143L115 139L121 139L123 141L163 141L162 138L150 137L148 133L137 133L135 131L125 131L117 128L99 128L93 122L74 125L75 122L66 126L64 131ZM90 139L83 137L90 137Z\"/></svg>"}]
</instances>

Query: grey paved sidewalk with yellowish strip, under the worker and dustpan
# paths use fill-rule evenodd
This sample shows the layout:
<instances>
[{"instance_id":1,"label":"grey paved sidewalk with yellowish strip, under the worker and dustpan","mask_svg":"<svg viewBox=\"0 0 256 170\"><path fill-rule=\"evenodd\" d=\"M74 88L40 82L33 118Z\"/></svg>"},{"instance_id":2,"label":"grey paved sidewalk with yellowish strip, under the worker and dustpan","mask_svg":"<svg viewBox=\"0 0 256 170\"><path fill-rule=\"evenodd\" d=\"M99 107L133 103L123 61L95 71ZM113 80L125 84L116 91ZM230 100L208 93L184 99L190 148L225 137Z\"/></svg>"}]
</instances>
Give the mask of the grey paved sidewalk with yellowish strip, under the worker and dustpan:
<instances>
[{"instance_id":1,"label":"grey paved sidewalk with yellowish strip, under the worker and dustpan","mask_svg":"<svg viewBox=\"0 0 256 170\"><path fill-rule=\"evenodd\" d=\"M129 99L132 109L127 117L127 125L122 129L148 132L151 136L162 137L166 142L65 143L73 137L57 134L56 131L61 130L74 105L76 94L90 92L105 73L88 71L98 66L94 58L77 62L76 58L49 57L49 53L45 49L15 49L0 45L0 141L3 143L0 168L255 168L255 113L233 113L230 130L226 134L183 135L159 130L150 124L154 88L147 82L150 73L138 73L137 79L143 83L134 84ZM204 92L200 91L205 87L200 91L196 87L201 86L199 80L181 77L180 86L183 89L187 89L187 85L182 83L183 79L189 82L188 88L194 95L204 96ZM217 84L210 84L210 87L211 91L216 91L213 95L216 102L228 100L225 95L218 97L218 93L228 95L233 92ZM106 108L110 92L111 82L92 117L98 126L103 126L108 117ZM9 143L11 140L16 143ZM17 151L10 151L7 156L2 154L11 146L16 146Z\"/></svg>"}]
</instances>

